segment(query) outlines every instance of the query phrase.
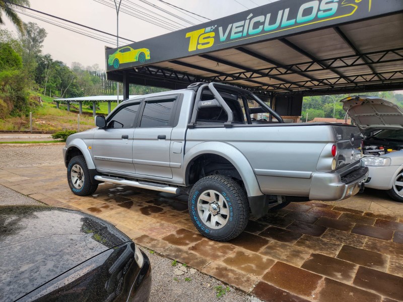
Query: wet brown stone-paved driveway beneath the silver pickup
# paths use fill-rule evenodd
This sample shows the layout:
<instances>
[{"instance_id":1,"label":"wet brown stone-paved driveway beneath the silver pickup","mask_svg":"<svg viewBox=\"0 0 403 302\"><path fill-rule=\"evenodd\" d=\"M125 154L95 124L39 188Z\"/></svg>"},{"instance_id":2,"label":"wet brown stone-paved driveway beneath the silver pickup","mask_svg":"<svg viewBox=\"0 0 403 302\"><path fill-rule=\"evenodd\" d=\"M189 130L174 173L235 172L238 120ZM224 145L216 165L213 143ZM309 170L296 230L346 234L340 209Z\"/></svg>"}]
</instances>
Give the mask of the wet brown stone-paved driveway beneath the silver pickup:
<instances>
[{"instance_id":1,"label":"wet brown stone-paved driveway beneath the silver pickup","mask_svg":"<svg viewBox=\"0 0 403 302\"><path fill-rule=\"evenodd\" d=\"M403 301L403 204L368 190L338 203L292 203L241 236L199 235L187 197L100 185L73 195L61 145L0 146L0 184L111 221L130 238L265 301Z\"/></svg>"}]
</instances>

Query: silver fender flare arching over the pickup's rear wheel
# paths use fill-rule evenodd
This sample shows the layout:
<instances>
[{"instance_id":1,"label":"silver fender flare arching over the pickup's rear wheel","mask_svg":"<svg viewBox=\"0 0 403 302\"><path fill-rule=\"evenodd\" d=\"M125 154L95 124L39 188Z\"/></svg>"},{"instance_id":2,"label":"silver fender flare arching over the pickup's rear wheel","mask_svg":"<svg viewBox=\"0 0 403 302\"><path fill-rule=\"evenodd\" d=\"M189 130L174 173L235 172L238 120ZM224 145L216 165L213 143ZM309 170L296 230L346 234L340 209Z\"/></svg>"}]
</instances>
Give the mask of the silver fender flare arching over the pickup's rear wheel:
<instances>
[{"instance_id":1,"label":"silver fender flare arching over the pickup's rear wheel","mask_svg":"<svg viewBox=\"0 0 403 302\"><path fill-rule=\"evenodd\" d=\"M256 175L250 166L249 161L245 156L229 143L214 141L214 142L201 142L191 147L183 158L183 179L187 184L188 172L190 163L197 157L204 154L219 155L228 160L240 174L245 185L246 193L248 196L261 196L263 193L260 191L259 183L257 182Z\"/></svg>"}]
</instances>

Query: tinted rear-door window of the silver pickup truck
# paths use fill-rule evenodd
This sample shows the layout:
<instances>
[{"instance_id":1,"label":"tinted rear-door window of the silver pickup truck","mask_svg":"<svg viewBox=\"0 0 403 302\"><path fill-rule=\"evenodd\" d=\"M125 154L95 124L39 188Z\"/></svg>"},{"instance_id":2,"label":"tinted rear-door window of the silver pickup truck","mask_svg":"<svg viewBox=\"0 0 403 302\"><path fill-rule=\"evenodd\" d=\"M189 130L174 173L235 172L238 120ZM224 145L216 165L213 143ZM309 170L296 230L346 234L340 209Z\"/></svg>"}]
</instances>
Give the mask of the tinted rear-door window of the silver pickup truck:
<instances>
[{"instance_id":1,"label":"tinted rear-door window of the silver pickup truck","mask_svg":"<svg viewBox=\"0 0 403 302\"><path fill-rule=\"evenodd\" d=\"M146 103L140 127L168 126L172 107L173 101Z\"/></svg>"}]
</instances>

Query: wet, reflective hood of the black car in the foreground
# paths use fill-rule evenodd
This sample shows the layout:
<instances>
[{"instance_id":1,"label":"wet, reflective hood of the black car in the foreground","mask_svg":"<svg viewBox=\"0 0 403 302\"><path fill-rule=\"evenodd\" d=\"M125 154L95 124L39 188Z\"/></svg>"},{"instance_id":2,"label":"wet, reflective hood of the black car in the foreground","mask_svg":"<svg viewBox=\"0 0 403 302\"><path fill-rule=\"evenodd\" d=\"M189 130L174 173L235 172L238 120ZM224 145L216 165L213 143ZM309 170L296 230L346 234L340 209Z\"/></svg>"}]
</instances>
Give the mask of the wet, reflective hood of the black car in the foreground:
<instances>
[{"instance_id":1,"label":"wet, reflective hood of the black car in the foreground","mask_svg":"<svg viewBox=\"0 0 403 302\"><path fill-rule=\"evenodd\" d=\"M112 224L82 212L45 206L0 207L0 296L16 300L129 241Z\"/></svg>"}]
</instances>

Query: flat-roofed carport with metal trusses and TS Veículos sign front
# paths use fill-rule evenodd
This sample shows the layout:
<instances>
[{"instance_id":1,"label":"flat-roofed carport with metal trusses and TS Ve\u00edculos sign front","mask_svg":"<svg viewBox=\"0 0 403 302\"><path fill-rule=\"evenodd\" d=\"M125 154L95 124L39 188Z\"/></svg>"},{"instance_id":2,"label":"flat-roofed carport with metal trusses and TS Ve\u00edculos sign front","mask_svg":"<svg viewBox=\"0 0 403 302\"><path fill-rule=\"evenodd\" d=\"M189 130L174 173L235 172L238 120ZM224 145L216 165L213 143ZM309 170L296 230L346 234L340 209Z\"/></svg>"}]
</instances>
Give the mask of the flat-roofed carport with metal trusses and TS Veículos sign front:
<instances>
[{"instance_id":1,"label":"flat-roofed carport with metal trusses and TS Ve\u00edculos sign front","mask_svg":"<svg viewBox=\"0 0 403 302\"><path fill-rule=\"evenodd\" d=\"M117 68L124 47L106 48L107 78L124 99L129 84L223 82L272 100L399 90L402 30L402 0L281 0L126 45L149 58Z\"/></svg>"}]
</instances>

